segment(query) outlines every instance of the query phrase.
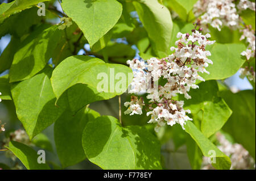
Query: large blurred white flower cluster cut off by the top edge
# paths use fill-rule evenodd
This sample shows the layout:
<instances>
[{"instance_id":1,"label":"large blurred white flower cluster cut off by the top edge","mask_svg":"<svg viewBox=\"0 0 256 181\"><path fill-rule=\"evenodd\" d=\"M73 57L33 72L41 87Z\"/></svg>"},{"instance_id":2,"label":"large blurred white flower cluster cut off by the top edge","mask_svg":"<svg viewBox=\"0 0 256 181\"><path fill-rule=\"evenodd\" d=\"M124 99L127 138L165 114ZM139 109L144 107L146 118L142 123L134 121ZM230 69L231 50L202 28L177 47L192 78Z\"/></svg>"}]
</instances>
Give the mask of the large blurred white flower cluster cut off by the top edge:
<instances>
[{"instance_id":1,"label":"large blurred white flower cluster cut off by the top edge","mask_svg":"<svg viewBox=\"0 0 256 181\"><path fill-rule=\"evenodd\" d=\"M199 0L193 11L197 16L199 12L205 12L201 16L201 24L210 24L221 31L221 27L236 28L239 24L239 15L233 0Z\"/></svg>"}]
</instances>

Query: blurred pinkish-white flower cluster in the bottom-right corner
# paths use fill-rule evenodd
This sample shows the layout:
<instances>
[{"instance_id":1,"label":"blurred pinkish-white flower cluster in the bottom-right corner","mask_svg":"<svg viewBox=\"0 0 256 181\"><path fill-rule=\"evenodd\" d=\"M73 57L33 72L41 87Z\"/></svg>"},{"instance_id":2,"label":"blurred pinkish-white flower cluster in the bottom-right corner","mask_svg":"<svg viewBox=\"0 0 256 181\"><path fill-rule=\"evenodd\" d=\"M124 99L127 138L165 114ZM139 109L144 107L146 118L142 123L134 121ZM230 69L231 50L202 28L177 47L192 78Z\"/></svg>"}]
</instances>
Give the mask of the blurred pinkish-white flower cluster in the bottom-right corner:
<instances>
[{"instance_id":1,"label":"blurred pinkish-white flower cluster in the bottom-right corner","mask_svg":"<svg viewBox=\"0 0 256 181\"><path fill-rule=\"evenodd\" d=\"M253 158L250 157L249 152L243 148L240 144L232 144L226 140L223 134L217 133L217 140L220 142L220 149L224 154L230 157L232 166L230 169L252 169L255 164ZM208 157L204 157L203 169L213 169L210 164L208 164Z\"/></svg>"}]
</instances>

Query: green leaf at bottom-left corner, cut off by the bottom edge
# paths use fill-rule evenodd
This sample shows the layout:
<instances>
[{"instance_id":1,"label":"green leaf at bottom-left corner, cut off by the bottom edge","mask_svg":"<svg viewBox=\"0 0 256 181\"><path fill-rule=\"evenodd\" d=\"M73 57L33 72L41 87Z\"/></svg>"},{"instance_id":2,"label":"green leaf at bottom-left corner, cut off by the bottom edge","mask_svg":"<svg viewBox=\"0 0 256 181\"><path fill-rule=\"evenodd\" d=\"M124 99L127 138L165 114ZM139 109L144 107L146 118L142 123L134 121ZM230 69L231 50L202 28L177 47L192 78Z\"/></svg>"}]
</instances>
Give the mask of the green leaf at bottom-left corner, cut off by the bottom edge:
<instances>
[{"instance_id":1,"label":"green leaf at bottom-left corner, cut off by the bottom edge","mask_svg":"<svg viewBox=\"0 0 256 181\"><path fill-rule=\"evenodd\" d=\"M50 169L46 163L38 163L39 155L36 151L20 142L10 141L9 147L6 146L13 154L20 159L28 170L48 170Z\"/></svg>"}]
</instances>

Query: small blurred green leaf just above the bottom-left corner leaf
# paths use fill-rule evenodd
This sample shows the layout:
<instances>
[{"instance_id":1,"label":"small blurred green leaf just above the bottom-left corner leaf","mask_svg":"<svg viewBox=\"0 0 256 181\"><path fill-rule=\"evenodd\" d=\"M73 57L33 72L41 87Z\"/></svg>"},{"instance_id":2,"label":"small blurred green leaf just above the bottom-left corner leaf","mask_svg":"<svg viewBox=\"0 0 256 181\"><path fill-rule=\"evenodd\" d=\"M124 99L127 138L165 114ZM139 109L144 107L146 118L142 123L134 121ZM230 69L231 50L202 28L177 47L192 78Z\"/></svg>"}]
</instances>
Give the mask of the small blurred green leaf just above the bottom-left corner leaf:
<instances>
[{"instance_id":1,"label":"small blurred green leaf just above the bottom-left corner leaf","mask_svg":"<svg viewBox=\"0 0 256 181\"><path fill-rule=\"evenodd\" d=\"M48 151L53 151L52 144L49 141L49 138L46 136L46 134L39 133L31 140L31 142L32 144L34 144L35 146L38 146L39 148L42 148Z\"/></svg>"}]
</instances>

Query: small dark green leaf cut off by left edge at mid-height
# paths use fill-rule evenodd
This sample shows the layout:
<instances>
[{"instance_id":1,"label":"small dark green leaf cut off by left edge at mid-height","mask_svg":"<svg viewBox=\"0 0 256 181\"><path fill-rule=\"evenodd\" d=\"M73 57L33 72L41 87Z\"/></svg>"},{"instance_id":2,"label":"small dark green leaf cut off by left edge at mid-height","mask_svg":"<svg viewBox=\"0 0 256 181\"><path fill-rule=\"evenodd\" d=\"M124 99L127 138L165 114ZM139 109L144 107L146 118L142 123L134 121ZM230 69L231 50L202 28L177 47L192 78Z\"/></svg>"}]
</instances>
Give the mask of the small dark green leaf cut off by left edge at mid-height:
<instances>
[{"instance_id":1,"label":"small dark green leaf cut off by left edge at mid-height","mask_svg":"<svg viewBox=\"0 0 256 181\"><path fill-rule=\"evenodd\" d=\"M2 95L0 95L2 100L11 100L11 88L8 75L0 77L0 92L2 93Z\"/></svg>"}]
</instances>

